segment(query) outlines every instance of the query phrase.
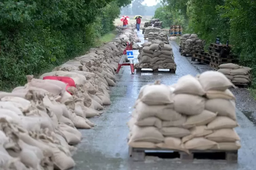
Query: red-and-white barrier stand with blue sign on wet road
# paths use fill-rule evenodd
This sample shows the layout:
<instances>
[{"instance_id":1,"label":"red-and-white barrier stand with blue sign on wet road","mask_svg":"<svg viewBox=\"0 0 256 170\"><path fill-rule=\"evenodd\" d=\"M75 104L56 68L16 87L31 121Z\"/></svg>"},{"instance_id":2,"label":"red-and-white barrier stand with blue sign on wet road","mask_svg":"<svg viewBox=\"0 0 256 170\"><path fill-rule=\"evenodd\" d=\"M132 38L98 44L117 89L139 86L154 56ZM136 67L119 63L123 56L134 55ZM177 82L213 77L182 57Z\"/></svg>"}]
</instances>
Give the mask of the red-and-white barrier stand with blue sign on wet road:
<instances>
[{"instance_id":1,"label":"red-and-white barrier stand with blue sign on wet road","mask_svg":"<svg viewBox=\"0 0 256 170\"><path fill-rule=\"evenodd\" d=\"M127 55L128 60L130 60L129 63L123 63L125 60L125 55ZM133 46L132 43L126 43L126 48L123 51L123 56L121 58L120 63L118 64L116 73L118 73L123 65L129 65L131 67L131 72L134 75L134 56L133 56Z\"/></svg>"}]
</instances>

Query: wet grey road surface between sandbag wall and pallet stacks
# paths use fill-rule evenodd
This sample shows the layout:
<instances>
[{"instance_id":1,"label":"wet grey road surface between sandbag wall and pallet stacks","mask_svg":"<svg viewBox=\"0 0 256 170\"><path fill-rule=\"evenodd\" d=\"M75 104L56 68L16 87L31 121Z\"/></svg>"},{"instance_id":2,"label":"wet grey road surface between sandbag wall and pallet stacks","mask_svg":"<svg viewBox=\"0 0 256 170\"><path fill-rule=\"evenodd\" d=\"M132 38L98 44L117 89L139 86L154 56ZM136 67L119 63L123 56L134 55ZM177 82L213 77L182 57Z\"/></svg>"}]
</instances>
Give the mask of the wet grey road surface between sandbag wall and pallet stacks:
<instances>
[{"instance_id":1,"label":"wet grey road surface between sandbag wall and pallet stacks","mask_svg":"<svg viewBox=\"0 0 256 170\"><path fill-rule=\"evenodd\" d=\"M138 32L141 44L144 43L142 31ZM126 122L130 119L132 107L143 85L161 80L163 84L173 84L178 78L199 72L189 61L180 55L176 44L171 42L177 70L171 73L135 73L131 75L130 67L123 66L116 74L117 86L111 89L111 102L100 118L91 119L97 124L90 130L81 130L82 142L77 146L73 158L76 166L73 170L254 170L256 127L237 109L240 127L236 128L241 137L241 149L238 151L238 164L215 163L210 161L194 161L183 163L170 159L146 157L145 162L133 162L128 154L126 137L129 129ZM139 54L134 51L135 58ZM135 63L138 62L135 60ZM218 107L218 106L217 106Z\"/></svg>"}]
</instances>

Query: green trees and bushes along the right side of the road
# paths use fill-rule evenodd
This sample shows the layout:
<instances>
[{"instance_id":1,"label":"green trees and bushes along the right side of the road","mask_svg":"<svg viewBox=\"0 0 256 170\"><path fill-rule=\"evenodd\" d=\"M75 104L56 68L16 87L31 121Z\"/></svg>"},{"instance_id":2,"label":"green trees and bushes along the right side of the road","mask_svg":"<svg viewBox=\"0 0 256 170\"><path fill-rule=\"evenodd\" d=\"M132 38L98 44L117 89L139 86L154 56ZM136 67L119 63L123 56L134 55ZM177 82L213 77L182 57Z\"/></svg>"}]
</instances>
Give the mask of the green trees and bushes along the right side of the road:
<instances>
[{"instance_id":1,"label":"green trees and bushes along the right side of the road","mask_svg":"<svg viewBox=\"0 0 256 170\"><path fill-rule=\"evenodd\" d=\"M183 18L184 33L195 33L209 43L217 36L221 43L229 41L240 65L253 68L256 74L256 1L251 0L163 0L155 12L165 26L175 25L174 18ZM174 14L173 14L174 13ZM180 15L179 17L177 17ZM179 19L176 19L178 21ZM168 25L169 24L169 25ZM256 88L255 76L252 89ZM251 90L252 91L252 90ZM253 94L255 95L255 90Z\"/></svg>"}]
</instances>

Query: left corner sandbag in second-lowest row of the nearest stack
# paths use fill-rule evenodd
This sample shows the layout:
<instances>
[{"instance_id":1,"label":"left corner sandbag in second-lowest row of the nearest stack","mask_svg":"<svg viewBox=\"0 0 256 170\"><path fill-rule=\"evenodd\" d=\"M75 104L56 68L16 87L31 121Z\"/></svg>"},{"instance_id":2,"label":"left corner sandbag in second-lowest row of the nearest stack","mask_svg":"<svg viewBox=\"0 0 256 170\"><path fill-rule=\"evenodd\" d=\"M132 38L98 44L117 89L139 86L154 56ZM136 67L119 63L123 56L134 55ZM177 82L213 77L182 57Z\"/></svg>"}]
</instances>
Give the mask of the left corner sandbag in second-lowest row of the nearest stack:
<instances>
[{"instance_id":1,"label":"left corner sandbag in second-lowest row of the nearest stack","mask_svg":"<svg viewBox=\"0 0 256 170\"><path fill-rule=\"evenodd\" d=\"M164 136L156 127L139 127L134 125L132 136L129 142L153 142L160 143L164 141Z\"/></svg>"}]
</instances>

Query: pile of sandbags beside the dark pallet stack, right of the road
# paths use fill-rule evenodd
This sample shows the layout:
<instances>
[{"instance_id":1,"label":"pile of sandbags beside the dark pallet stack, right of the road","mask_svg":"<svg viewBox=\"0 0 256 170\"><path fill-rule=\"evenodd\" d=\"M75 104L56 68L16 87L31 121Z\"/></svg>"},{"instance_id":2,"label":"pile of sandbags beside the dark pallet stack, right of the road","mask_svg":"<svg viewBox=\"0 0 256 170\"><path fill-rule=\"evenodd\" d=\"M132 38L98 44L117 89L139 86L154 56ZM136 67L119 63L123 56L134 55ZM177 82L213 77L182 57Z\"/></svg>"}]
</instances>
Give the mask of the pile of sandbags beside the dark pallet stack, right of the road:
<instances>
[{"instance_id":1,"label":"pile of sandbags beside the dark pallet stack, right of the road","mask_svg":"<svg viewBox=\"0 0 256 170\"><path fill-rule=\"evenodd\" d=\"M184 34L180 39L181 54L193 54L195 50L204 49L204 41L196 34Z\"/></svg>"}]
</instances>

